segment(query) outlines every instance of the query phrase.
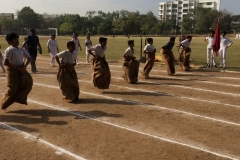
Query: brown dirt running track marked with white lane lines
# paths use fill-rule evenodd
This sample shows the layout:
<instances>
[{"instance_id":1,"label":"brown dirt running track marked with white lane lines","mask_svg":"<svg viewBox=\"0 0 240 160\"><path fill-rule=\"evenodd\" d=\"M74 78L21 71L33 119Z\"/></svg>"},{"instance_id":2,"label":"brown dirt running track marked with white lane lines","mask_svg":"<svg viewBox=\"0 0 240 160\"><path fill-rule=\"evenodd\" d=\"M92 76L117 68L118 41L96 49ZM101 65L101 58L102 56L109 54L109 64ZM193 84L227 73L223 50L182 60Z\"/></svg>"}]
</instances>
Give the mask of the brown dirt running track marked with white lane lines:
<instances>
[{"instance_id":1,"label":"brown dirt running track marked with white lane lines","mask_svg":"<svg viewBox=\"0 0 240 160\"><path fill-rule=\"evenodd\" d=\"M155 65L151 79L127 84L121 63L109 63L110 89L98 90L81 61L80 100L69 104L57 67L38 57L28 106L0 110L1 159L240 159L239 73L182 72L176 65L177 73L167 76ZM3 94L3 73L0 84Z\"/></svg>"}]
</instances>

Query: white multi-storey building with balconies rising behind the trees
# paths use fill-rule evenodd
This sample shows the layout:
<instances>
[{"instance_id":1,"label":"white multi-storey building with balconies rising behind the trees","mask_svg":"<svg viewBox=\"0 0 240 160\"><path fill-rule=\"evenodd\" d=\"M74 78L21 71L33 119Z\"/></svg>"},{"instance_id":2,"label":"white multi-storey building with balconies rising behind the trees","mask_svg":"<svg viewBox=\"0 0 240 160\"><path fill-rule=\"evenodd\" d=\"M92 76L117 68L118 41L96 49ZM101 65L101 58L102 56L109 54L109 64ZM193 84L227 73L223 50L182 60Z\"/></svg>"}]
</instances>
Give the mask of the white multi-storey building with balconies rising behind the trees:
<instances>
[{"instance_id":1,"label":"white multi-storey building with balconies rising behind the trees","mask_svg":"<svg viewBox=\"0 0 240 160\"><path fill-rule=\"evenodd\" d=\"M181 22L184 15L192 12L196 7L220 10L221 0L176 0L159 3L159 20L176 19Z\"/></svg>"}]
</instances>

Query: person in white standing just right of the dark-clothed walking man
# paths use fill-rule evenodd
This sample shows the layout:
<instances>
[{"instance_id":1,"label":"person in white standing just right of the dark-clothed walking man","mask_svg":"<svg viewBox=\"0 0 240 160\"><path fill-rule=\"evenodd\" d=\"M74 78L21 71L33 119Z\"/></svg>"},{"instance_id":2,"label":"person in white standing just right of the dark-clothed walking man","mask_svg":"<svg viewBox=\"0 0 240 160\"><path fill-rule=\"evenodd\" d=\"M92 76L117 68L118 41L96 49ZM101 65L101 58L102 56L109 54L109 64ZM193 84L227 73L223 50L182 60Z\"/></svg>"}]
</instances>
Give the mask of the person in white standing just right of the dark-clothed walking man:
<instances>
[{"instance_id":1,"label":"person in white standing just right of the dark-clothed walking man","mask_svg":"<svg viewBox=\"0 0 240 160\"><path fill-rule=\"evenodd\" d=\"M48 53L50 53L50 56L51 56L50 65L51 67L55 67L55 56L59 52L58 43L57 43L55 34L52 34L51 39L48 40L47 49L48 49Z\"/></svg>"}]
</instances>

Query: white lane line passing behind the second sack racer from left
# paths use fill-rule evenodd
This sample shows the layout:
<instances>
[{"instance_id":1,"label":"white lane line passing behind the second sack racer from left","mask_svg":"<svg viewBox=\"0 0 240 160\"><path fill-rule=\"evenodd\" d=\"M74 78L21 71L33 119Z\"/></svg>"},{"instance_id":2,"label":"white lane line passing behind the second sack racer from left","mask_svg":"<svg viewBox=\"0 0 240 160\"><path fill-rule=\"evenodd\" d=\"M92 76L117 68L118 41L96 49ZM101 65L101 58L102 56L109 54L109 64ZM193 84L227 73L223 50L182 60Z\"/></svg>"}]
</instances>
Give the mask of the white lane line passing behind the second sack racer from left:
<instances>
[{"instance_id":1,"label":"white lane line passing behind the second sack racer from left","mask_svg":"<svg viewBox=\"0 0 240 160\"><path fill-rule=\"evenodd\" d=\"M34 83L34 84L38 85L38 86L59 89L58 86L47 85L47 84L42 84L42 83ZM198 115L198 114L194 114L194 113L186 112L186 111L181 111L181 110L177 110L177 109L170 109L170 108L166 108L166 107L163 107L163 106L151 105L151 104L146 104L146 103L142 103L142 102L138 102L138 101L132 101L132 100L124 100L124 99L121 99L121 98L104 96L104 95L101 95L101 94L95 94L95 93L84 92L84 91L80 91L80 93L88 94L88 95L92 95L92 96L97 96L97 97L102 97L102 98L105 98L105 99L120 101L120 102L136 104L136 105L143 106L143 107L156 108L156 109L160 109L160 110L167 110L167 111L174 112L174 113L186 114L188 116L197 117L197 118L201 118L201 119L206 119L206 120L210 120L210 121L213 121L213 122L219 122L219 123L224 123L224 124L228 124L228 125L233 125L233 126L237 126L237 127L240 126L239 123L226 121L226 120L222 120L222 119L217 119L217 118L211 118L211 117L208 117L208 116L202 116L202 115Z\"/></svg>"}]
</instances>

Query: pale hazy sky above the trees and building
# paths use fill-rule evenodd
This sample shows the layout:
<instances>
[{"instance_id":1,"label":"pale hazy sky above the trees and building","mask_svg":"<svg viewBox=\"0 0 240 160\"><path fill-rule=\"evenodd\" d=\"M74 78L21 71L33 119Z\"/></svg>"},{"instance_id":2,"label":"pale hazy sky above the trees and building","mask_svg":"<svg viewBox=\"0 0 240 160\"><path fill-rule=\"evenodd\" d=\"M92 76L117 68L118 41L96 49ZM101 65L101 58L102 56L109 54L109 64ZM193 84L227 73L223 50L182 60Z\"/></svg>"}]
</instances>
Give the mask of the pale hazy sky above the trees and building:
<instances>
[{"instance_id":1,"label":"pale hazy sky above the trees and building","mask_svg":"<svg viewBox=\"0 0 240 160\"><path fill-rule=\"evenodd\" d=\"M45 1L45 2L44 2ZM139 11L142 14L152 11L158 16L159 2L173 0L0 0L0 13L16 13L24 6L30 6L36 13L71 13L85 16L87 11L112 12L117 10ZM234 15L240 14L240 0L221 0L221 10Z\"/></svg>"}]
</instances>

